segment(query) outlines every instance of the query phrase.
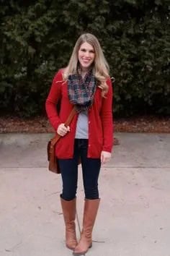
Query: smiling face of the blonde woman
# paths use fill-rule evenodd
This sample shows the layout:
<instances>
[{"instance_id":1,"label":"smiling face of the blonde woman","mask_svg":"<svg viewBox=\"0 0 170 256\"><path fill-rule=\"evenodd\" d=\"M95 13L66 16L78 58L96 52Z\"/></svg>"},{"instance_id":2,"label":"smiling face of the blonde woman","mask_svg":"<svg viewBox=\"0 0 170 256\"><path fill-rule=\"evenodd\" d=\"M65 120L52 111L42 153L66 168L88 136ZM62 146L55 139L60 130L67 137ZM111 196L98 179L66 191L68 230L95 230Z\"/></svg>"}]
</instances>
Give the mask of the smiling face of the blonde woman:
<instances>
[{"instance_id":1,"label":"smiling face of the blonde woman","mask_svg":"<svg viewBox=\"0 0 170 256\"><path fill-rule=\"evenodd\" d=\"M89 43L82 43L79 52L78 59L81 69L87 71L95 58L94 48Z\"/></svg>"}]
</instances>

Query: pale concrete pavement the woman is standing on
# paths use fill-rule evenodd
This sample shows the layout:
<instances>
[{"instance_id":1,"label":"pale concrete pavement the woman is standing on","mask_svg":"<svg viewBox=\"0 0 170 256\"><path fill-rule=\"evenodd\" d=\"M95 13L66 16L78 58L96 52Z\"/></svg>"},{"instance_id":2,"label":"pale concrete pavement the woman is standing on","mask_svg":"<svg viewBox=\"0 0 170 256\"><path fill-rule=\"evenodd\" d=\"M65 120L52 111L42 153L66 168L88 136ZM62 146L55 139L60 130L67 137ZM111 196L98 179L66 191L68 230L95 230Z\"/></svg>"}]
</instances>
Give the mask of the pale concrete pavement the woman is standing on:
<instances>
[{"instance_id":1,"label":"pale concrete pavement the woman is standing on","mask_svg":"<svg viewBox=\"0 0 170 256\"><path fill-rule=\"evenodd\" d=\"M61 176L47 169L50 137L0 135L1 256L72 255L64 244ZM170 256L170 135L115 137L120 145L102 166L95 242L86 255ZM81 168L77 195L81 221Z\"/></svg>"}]
</instances>

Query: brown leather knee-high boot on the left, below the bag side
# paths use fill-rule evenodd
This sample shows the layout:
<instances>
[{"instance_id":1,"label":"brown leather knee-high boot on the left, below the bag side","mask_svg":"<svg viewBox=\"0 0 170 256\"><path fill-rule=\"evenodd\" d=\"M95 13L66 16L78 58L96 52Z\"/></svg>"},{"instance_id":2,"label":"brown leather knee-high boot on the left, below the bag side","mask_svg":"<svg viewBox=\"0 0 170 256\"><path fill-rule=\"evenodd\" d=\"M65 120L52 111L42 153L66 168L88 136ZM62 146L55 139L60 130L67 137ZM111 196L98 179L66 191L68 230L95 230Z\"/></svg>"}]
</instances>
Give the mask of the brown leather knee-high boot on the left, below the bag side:
<instances>
[{"instance_id":1,"label":"brown leather knee-high boot on the left, below the bag side","mask_svg":"<svg viewBox=\"0 0 170 256\"><path fill-rule=\"evenodd\" d=\"M63 218L66 225L66 247L74 249L77 244L76 239L76 198L67 201L61 197L61 206L63 209Z\"/></svg>"}]
</instances>

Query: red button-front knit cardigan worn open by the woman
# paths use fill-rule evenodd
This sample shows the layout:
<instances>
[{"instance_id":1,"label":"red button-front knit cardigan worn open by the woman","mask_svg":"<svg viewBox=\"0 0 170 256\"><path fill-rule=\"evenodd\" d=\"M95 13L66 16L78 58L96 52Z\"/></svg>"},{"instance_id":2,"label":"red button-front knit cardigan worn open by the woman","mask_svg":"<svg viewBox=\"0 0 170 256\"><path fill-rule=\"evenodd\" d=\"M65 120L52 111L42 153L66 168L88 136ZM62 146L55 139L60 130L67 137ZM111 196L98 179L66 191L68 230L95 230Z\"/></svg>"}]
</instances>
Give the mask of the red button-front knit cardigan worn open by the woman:
<instances>
[{"instance_id":1,"label":"red button-front knit cardigan worn open by the woman","mask_svg":"<svg viewBox=\"0 0 170 256\"><path fill-rule=\"evenodd\" d=\"M107 80L109 86L106 98L101 95L101 89L97 88L94 95L94 103L89 108L89 146L88 158L100 158L102 150L111 152L113 144L113 122L112 122L112 82ZM61 99L61 111L58 114L56 103ZM73 108L68 100L67 82L63 82L62 69L53 79L50 93L45 103L50 124L55 131L58 125L64 123ZM70 124L70 132L56 144L56 156L58 158L73 158L74 138L76 134L76 122L78 114L73 117Z\"/></svg>"}]
</instances>

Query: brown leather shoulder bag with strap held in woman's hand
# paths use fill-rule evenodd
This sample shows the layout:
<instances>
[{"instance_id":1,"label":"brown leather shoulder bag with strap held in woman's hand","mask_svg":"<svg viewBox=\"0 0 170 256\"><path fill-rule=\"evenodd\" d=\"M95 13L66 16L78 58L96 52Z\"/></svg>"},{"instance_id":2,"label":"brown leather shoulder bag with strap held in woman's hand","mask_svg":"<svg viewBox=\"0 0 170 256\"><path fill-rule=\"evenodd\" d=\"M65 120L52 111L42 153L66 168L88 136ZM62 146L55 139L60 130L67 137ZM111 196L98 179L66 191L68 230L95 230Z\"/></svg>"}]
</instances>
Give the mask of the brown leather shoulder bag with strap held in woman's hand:
<instances>
[{"instance_id":1,"label":"brown leather shoulder bag with strap held in woman's hand","mask_svg":"<svg viewBox=\"0 0 170 256\"><path fill-rule=\"evenodd\" d=\"M68 125L71 123L73 116L76 114L76 108L73 107L71 114L69 114L68 119L66 120L65 126L68 127ZM60 166L58 164L58 158L56 158L55 155L55 145L60 139L61 135L56 134L55 137L53 137L49 142L48 142L48 170L53 171L55 174L61 174Z\"/></svg>"}]
</instances>

